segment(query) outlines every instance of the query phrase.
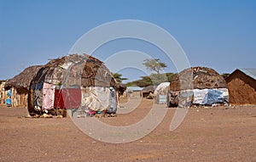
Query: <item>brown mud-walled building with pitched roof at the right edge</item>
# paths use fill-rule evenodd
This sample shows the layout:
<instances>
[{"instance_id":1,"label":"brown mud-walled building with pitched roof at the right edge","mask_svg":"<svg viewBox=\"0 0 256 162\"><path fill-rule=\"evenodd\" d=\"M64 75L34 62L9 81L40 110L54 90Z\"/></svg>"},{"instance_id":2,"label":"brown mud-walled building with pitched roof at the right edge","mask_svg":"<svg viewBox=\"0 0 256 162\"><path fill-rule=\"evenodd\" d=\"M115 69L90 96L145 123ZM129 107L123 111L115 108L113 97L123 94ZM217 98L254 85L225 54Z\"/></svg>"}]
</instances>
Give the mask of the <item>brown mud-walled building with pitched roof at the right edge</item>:
<instances>
[{"instance_id":1,"label":"brown mud-walled building with pitched roof at the right edge","mask_svg":"<svg viewBox=\"0 0 256 162\"><path fill-rule=\"evenodd\" d=\"M230 103L256 104L256 70L237 69L226 78Z\"/></svg>"}]
</instances>

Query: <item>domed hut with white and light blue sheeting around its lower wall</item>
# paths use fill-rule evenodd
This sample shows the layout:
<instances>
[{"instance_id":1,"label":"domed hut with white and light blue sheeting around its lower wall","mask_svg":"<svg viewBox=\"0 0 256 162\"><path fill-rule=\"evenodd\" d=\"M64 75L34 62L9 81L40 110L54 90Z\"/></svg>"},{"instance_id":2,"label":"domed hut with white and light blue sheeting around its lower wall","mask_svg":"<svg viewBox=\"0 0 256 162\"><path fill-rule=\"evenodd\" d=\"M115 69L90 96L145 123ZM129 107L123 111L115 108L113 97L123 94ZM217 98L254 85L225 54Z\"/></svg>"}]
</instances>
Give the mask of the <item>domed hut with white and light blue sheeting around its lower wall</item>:
<instances>
[{"instance_id":1,"label":"domed hut with white and light blue sheeting around its lower wall","mask_svg":"<svg viewBox=\"0 0 256 162\"><path fill-rule=\"evenodd\" d=\"M193 67L174 77L168 93L168 107L188 107L192 104L228 103L226 81L218 72L206 67Z\"/></svg>"}]
</instances>

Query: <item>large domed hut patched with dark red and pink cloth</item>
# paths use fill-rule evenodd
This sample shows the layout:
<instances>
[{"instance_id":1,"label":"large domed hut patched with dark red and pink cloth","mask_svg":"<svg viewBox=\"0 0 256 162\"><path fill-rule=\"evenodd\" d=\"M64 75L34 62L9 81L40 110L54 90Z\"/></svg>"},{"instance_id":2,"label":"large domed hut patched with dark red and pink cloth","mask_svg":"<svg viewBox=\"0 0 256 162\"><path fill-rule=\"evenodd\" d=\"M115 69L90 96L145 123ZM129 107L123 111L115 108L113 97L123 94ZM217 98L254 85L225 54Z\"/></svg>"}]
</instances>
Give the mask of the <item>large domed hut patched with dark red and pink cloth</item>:
<instances>
[{"instance_id":1,"label":"large domed hut patched with dark red and pink cloth","mask_svg":"<svg viewBox=\"0 0 256 162\"><path fill-rule=\"evenodd\" d=\"M102 61L86 54L70 54L52 59L38 70L29 87L28 110L31 115L55 109L96 112L109 111L115 104L116 111L117 93L113 95L113 91L118 88Z\"/></svg>"}]
</instances>

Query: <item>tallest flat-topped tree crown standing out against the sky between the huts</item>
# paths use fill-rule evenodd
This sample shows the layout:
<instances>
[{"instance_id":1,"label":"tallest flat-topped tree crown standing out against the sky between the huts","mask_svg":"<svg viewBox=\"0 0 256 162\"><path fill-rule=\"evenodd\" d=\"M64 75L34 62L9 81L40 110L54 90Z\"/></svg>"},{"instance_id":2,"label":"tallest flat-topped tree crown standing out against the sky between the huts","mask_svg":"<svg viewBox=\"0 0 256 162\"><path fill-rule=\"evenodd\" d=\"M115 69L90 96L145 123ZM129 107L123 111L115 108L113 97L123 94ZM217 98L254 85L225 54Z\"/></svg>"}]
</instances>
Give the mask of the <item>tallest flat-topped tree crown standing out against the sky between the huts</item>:
<instances>
[{"instance_id":1,"label":"tallest flat-topped tree crown standing out against the sky between the huts","mask_svg":"<svg viewBox=\"0 0 256 162\"><path fill-rule=\"evenodd\" d=\"M156 72L156 74L160 74L160 70L164 70L167 65L165 63L161 63L160 59L145 59L143 63L148 70Z\"/></svg>"}]
</instances>

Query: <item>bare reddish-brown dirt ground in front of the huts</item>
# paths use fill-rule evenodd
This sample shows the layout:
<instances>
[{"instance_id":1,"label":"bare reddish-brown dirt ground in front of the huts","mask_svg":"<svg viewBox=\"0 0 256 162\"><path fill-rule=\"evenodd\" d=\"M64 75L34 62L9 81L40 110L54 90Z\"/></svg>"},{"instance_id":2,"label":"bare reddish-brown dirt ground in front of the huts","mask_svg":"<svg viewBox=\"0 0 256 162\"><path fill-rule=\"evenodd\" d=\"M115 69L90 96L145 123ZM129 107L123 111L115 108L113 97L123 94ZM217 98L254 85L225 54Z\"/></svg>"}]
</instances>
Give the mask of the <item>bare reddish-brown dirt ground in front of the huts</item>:
<instances>
[{"instance_id":1,"label":"bare reddish-brown dirt ground in front of the huts","mask_svg":"<svg viewBox=\"0 0 256 162\"><path fill-rule=\"evenodd\" d=\"M130 125L147 114L143 99L128 115L101 119ZM167 109L167 108L166 108ZM29 119L25 108L0 107L0 161L256 161L256 106L189 109L169 131L168 109L154 131L135 142L110 144L88 137L67 118Z\"/></svg>"}]
</instances>

